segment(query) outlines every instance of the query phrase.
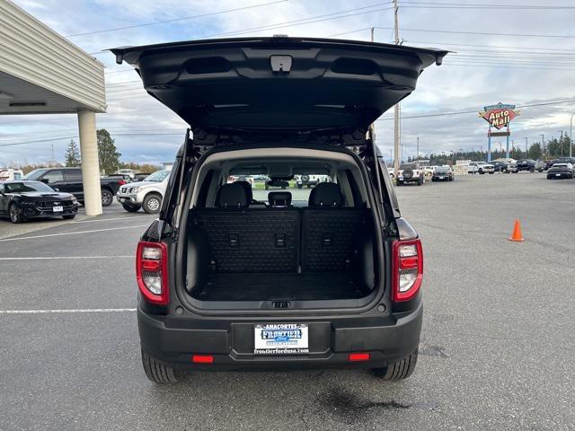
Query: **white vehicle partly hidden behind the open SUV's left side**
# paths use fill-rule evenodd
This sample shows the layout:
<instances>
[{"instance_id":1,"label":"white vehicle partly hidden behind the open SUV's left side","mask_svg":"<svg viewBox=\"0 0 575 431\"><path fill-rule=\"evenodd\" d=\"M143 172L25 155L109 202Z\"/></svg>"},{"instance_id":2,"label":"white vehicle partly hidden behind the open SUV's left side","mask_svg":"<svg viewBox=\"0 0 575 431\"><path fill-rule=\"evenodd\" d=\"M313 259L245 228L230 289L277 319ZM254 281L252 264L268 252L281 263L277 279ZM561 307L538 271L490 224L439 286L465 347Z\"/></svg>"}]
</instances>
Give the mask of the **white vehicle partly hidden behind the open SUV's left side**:
<instances>
[{"instance_id":1,"label":"white vehicle partly hidden behind the open SUV's left side","mask_svg":"<svg viewBox=\"0 0 575 431\"><path fill-rule=\"evenodd\" d=\"M116 198L124 209L130 213L143 208L147 214L160 212L164 200L165 189L170 180L168 170L156 171L143 181L130 182L121 186Z\"/></svg>"}]
</instances>

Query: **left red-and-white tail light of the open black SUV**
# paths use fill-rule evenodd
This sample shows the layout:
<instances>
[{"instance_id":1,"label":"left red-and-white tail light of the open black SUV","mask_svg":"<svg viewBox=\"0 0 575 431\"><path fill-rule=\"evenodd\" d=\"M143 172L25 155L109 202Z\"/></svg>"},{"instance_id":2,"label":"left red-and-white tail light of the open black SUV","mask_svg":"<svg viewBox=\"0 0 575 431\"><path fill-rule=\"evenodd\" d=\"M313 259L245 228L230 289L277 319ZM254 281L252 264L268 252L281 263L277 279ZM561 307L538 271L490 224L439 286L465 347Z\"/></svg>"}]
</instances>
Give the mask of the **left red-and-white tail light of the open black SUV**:
<instances>
[{"instance_id":1,"label":"left red-and-white tail light of the open black SUV","mask_svg":"<svg viewBox=\"0 0 575 431\"><path fill-rule=\"evenodd\" d=\"M137 286L148 303L167 305L168 253L164 242L137 243Z\"/></svg>"}]
</instances>

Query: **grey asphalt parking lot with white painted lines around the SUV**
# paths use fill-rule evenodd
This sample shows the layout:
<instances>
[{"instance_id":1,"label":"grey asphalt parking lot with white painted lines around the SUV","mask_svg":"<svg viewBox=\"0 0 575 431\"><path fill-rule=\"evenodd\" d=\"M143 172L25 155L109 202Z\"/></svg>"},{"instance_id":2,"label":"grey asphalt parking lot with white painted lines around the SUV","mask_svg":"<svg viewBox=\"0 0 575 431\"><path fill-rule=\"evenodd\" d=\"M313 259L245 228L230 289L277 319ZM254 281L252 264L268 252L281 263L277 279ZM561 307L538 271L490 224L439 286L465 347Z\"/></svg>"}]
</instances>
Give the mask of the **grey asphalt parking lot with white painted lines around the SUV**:
<instances>
[{"instance_id":1,"label":"grey asphalt parking lot with white painted lines around the SUV","mask_svg":"<svg viewBox=\"0 0 575 431\"><path fill-rule=\"evenodd\" d=\"M133 259L153 216L114 204L15 236L0 220L0 428L574 429L575 180L396 191L425 252L420 362L401 383L328 370L156 386L140 365ZM516 218L525 242L508 241Z\"/></svg>"}]
</instances>

